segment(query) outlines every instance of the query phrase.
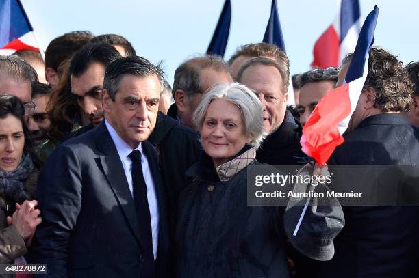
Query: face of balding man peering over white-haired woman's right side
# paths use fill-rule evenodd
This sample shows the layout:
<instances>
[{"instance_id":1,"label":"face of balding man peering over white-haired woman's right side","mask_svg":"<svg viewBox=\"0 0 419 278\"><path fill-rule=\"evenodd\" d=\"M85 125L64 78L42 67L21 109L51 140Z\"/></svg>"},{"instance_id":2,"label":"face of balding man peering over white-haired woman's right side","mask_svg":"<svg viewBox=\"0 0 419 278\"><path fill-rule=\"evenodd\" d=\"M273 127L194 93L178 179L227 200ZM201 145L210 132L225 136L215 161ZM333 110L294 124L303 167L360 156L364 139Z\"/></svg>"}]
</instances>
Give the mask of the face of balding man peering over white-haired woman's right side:
<instances>
[{"instance_id":1,"label":"face of balding man peering over white-haired woman's right side","mask_svg":"<svg viewBox=\"0 0 419 278\"><path fill-rule=\"evenodd\" d=\"M275 66L256 64L246 68L240 79L257 94L264 107L264 128L270 133L279 127L285 117L288 94L283 92L281 74Z\"/></svg>"}]
</instances>

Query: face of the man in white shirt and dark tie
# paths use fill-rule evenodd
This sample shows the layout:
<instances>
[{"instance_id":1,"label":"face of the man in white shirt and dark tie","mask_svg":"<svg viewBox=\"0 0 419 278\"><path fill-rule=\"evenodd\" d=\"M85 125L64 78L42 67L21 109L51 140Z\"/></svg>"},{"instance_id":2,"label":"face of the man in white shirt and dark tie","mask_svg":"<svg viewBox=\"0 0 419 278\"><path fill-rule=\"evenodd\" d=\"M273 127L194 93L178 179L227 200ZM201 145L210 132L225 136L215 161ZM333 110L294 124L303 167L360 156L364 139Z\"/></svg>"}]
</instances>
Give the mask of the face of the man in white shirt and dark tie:
<instances>
[{"instance_id":1,"label":"face of the man in white shirt and dark tie","mask_svg":"<svg viewBox=\"0 0 419 278\"><path fill-rule=\"evenodd\" d=\"M157 117L160 82L155 75L127 74L120 81L115 101L103 92L103 108L108 122L131 148L149 138Z\"/></svg>"}]
</instances>

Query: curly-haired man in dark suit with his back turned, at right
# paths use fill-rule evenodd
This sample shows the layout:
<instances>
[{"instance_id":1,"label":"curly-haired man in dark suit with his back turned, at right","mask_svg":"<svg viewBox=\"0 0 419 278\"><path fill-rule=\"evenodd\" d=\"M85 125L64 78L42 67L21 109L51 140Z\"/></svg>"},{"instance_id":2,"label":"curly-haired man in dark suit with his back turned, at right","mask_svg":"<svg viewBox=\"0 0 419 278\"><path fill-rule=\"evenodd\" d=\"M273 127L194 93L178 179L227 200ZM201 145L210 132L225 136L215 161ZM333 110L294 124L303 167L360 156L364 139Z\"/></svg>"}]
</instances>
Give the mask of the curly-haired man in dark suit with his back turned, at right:
<instances>
[{"instance_id":1,"label":"curly-haired man in dark suit with his back turned, at right","mask_svg":"<svg viewBox=\"0 0 419 278\"><path fill-rule=\"evenodd\" d=\"M400 113L411 101L407 72L388 51L372 48L369 55L368 77L351 117L349 133L328 164L418 167L419 130ZM351 58L349 55L342 62L338 85ZM353 184L361 182L361 173L345 177ZM365 186L377 186L381 178L377 176ZM345 227L334 241L335 257L320 264L317 277L419 277L418 207L346 206L344 215Z\"/></svg>"}]
</instances>

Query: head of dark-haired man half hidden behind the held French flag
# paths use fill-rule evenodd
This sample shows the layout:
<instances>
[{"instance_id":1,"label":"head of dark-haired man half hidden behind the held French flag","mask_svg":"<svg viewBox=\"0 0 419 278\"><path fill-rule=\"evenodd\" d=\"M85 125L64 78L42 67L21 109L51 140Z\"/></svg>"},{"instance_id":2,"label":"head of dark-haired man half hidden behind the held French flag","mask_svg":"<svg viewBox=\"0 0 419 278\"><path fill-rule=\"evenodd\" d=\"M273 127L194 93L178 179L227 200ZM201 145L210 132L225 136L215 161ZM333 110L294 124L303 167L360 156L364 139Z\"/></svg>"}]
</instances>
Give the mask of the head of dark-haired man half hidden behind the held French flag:
<instances>
[{"instance_id":1,"label":"head of dark-haired man half hidden behind the held French flag","mask_svg":"<svg viewBox=\"0 0 419 278\"><path fill-rule=\"evenodd\" d=\"M302 126L312 115L317 103L329 90L335 87L338 81L338 73L337 68L327 68L325 70L316 68L301 74L299 77L301 84L299 105L296 108L299 111Z\"/></svg>"}]
</instances>

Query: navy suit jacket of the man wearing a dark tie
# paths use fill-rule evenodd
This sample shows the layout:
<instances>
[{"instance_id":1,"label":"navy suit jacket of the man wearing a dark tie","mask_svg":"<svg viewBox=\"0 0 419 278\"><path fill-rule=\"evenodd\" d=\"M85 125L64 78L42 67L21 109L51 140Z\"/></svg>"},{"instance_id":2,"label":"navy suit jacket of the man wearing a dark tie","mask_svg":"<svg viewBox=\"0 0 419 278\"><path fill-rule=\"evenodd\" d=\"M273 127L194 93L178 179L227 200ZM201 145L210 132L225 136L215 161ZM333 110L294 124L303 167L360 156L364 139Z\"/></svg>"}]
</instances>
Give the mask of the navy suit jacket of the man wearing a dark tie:
<instances>
[{"instance_id":1,"label":"navy suit jacket of the man wearing a dark tie","mask_svg":"<svg viewBox=\"0 0 419 278\"><path fill-rule=\"evenodd\" d=\"M142 142L159 202L157 277L166 277L167 223L157 156ZM38 180L42 224L31 258L51 277L142 277L139 223L105 123L54 150ZM42 276L44 277L44 276Z\"/></svg>"}]
</instances>

